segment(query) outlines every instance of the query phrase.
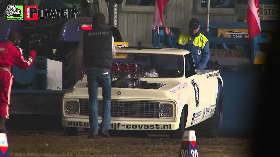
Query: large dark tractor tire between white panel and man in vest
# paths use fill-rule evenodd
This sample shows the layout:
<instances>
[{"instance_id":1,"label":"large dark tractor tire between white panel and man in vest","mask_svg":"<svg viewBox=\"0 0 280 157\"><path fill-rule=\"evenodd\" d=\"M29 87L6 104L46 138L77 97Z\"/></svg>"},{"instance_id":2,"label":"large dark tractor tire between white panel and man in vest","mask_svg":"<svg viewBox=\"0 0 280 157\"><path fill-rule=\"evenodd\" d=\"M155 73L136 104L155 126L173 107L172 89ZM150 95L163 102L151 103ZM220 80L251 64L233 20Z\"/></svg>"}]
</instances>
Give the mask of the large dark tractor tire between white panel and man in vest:
<instances>
[{"instance_id":1,"label":"large dark tractor tire between white panel and man in vest","mask_svg":"<svg viewBox=\"0 0 280 157\"><path fill-rule=\"evenodd\" d=\"M76 52L77 49L71 50L66 54L63 61L63 88L68 89L76 84L78 75L76 72Z\"/></svg>"}]
</instances>

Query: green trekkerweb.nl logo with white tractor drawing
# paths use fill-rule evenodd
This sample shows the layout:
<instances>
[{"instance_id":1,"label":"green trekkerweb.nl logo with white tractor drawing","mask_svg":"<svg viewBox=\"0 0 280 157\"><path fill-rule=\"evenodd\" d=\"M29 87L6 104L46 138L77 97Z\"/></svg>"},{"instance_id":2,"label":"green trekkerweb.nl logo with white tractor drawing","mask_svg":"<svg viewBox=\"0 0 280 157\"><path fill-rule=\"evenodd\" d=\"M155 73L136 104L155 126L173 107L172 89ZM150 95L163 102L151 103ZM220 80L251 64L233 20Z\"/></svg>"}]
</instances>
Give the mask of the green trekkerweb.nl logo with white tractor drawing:
<instances>
[{"instance_id":1,"label":"green trekkerweb.nl logo with white tractor drawing","mask_svg":"<svg viewBox=\"0 0 280 157\"><path fill-rule=\"evenodd\" d=\"M7 20L23 20L23 5L7 5L5 14L7 16Z\"/></svg>"}]
</instances>

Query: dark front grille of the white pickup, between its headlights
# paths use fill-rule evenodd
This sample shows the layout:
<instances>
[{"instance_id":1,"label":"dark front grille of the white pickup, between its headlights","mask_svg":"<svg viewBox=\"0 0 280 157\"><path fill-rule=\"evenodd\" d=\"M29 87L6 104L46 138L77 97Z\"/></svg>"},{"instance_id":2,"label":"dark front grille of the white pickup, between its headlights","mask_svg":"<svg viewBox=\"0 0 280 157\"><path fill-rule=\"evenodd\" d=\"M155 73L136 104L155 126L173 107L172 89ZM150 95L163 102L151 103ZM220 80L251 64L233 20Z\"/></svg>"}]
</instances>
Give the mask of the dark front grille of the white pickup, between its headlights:
<instances>
[{"instance_id":1,"label":"dark front grille of the white pickup, between its headlights","mask_svg":"<svg viewBox=\"0 0 280 157\"><path fill-rule=\"evenodd\" d=\"M79 99L80 115L88 116L89 100ZM102 116L102 100L98 100L98 116ZM159 102L111 100L111 117L158 118Z\"/></svg>"}]
</instances>

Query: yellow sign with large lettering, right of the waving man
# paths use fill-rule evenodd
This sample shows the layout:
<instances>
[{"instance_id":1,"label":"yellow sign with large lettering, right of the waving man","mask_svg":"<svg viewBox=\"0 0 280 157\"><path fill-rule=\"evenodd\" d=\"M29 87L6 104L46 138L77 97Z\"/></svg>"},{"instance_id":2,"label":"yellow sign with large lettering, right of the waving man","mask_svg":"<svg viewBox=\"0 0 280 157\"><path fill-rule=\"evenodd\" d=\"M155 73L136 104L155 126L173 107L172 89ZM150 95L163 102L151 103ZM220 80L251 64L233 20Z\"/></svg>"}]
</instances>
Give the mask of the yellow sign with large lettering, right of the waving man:
<instances>
[{"instance_id":1,"label":"yellow sign with large lettering, right of the waving man","mask_svg":"<svg viewBox=\"0 0 280 157\"><path fill-rule=\"evenodd\" d=\"M218 29L218 37L221 33L226 38L249 38L248 29Z\"/></svg>"}]
</instances>

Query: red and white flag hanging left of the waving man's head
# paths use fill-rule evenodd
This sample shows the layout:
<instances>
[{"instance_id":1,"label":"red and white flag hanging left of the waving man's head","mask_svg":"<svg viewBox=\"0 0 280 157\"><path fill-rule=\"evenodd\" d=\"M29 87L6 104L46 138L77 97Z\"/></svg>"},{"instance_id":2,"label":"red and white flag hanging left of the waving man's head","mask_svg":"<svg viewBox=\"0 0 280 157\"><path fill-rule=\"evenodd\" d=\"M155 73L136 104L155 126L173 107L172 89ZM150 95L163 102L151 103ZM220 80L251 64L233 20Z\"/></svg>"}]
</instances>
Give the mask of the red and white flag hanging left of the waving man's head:
<instances>
[{"instance_id":1,"label":"red and white flag hanging left of the waving man's head","mask_svg":"<svg viewBox=\"0 0 280 157\"><path fill-rule=\"evenodd\" d=\"M169 0L155 0L154 29L163 23L163 9ZM157 30L157 29L156 29Z\"/></svg>"}]
</instances>

